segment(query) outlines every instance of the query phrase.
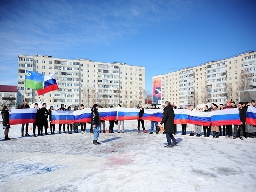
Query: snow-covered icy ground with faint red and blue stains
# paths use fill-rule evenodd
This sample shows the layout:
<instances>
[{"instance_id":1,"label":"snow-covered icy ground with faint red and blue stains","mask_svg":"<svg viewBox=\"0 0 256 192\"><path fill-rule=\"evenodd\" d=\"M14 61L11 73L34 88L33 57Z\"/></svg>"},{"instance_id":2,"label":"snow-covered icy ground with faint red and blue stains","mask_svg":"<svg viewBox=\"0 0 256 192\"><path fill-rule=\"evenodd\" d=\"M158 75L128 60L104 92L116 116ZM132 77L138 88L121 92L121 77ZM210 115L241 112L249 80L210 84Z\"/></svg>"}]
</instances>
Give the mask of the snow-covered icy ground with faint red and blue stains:
<instances>
[{"instance_id":1,"label":"snow-covered icy ground with faint red and blue stains","mask_svg":"<svg viewBox=\"0 0 256 192\"><path fill-rule=\"evenodd\" d=\"M256 191L256 139L184 136L177 125L179 143L165 148L165 135L138 134L132 120L124 127L100 133L94 145L81 130L21 137L21 125L4 140L1 126L0 191Z\"/></svg>"}]
</instances>

